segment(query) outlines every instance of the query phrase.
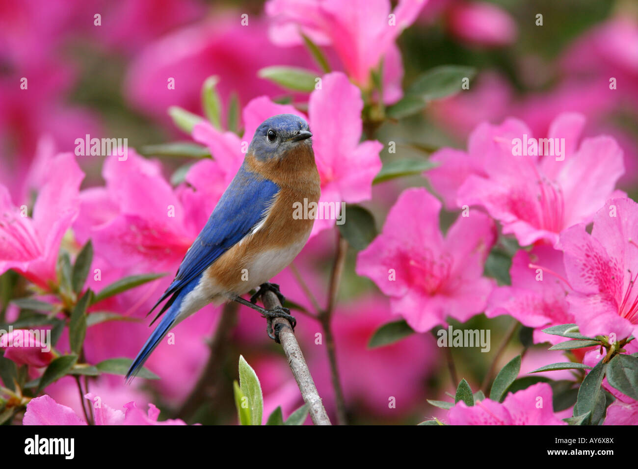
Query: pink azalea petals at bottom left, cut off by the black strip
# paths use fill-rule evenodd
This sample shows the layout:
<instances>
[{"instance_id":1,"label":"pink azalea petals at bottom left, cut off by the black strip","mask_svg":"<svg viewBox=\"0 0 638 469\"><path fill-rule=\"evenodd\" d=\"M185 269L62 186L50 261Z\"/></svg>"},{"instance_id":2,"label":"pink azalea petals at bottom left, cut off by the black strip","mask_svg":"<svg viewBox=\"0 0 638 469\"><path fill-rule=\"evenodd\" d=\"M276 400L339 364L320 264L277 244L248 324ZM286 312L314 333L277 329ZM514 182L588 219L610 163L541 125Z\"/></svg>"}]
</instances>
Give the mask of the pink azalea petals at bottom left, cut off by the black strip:
<instances>
[{"instance_id":1,"label":"pink azalea petals at bottom left, cut off by the black strip","mask_svg":"<svg viewBox=\"0 0 638 469\"><path fill-rule=\"evenodd\" d=\"M135 406L135 402L124 405L124 411L109 407L101 402L99 396L90 392L84 396L93 406L96 425L186 425L179 419L158 422L159 409L149 404L147 413ZM58 404L47 394L34 398L27 404L27 411L22 419L23 425L86 425L84 419L78 417L70 407Z\"/></svg>"}]
</instances>

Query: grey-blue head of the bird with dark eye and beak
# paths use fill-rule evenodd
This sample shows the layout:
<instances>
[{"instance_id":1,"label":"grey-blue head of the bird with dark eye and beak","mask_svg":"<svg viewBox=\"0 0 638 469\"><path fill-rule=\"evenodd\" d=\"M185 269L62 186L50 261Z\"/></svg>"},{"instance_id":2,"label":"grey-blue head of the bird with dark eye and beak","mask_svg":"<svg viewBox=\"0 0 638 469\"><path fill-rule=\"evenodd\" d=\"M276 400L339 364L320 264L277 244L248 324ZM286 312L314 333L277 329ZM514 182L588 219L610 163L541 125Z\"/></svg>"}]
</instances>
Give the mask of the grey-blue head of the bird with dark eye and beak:
<instances>
[{"instance_id":1,"label":"grey-blue head of the bird with dark eye and beak","mask_svg":"<svg viewBox=\"0 0 638 469\"><path fill-rule=\"evenodd\" d=\"M294 114L278 114L263 121L248 151L260 161L281 158L298 145L311 145L308 123Z\"/></svg>"}]
</instances>

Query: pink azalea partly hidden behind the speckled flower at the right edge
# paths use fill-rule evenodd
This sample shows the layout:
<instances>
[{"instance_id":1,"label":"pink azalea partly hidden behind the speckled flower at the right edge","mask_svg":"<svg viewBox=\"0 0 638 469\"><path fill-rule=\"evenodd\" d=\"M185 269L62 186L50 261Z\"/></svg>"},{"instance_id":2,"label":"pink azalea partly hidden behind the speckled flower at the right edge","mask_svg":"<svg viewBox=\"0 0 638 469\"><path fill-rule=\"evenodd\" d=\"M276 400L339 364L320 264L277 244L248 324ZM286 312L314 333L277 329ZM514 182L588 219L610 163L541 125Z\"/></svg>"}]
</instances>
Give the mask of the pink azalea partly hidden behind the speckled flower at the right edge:
<instances>
[{"instance_id":1,"label":"pink azalea partly hidden behind the speckled flower at the right edge","mask_svg":"<svg viewBox=\"0 0 638 469\"><path fill-rule=\"evenodd\" d=\"M566 276L560 251L547 244L535 246L530 252L521 249L512 258L512 286L494 288L486 316L507 314L533 327L535 343L561 342L565 339L541 329L574 322L574 315L568 311L566 295L571 288Z\"/></svg>"}]
</instances>

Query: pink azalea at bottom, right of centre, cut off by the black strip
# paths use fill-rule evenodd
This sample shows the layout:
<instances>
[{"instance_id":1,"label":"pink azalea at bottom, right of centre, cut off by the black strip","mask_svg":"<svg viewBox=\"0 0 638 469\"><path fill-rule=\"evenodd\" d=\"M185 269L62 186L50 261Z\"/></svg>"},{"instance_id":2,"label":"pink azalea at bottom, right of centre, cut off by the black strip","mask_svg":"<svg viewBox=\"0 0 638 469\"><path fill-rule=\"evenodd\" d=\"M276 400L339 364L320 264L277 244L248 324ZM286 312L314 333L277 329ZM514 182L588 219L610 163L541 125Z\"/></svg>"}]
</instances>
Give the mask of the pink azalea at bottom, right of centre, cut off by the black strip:
<instances>
[{"instance_id":1,"label":"pink azalea at bottom, right of centre, cut off by the black strip","mask_svg":"<svg viewBox=\"0 0 638 469\"><path fill-rule=\"evenodd\" d=\"M483 399L468 407L459 401L447 418L450 425L567 425L554 415L552 389L547 383L510 393L502 404Z\"/></svg>"}]
</instances>

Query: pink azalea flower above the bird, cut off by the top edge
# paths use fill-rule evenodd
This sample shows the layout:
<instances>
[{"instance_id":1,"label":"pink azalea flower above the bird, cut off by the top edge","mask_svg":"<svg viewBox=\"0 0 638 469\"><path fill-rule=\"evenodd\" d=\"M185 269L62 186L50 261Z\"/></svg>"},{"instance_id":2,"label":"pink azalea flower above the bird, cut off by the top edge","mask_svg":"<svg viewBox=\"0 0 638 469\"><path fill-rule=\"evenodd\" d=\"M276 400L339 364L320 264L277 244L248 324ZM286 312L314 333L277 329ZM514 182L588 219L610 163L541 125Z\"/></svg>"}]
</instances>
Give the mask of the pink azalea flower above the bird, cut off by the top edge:
<instances>
[{"instance_id":1,"label":"pink azalea flower above the bird, cut off by the top edge","mask_svg":"<svg viewBox=\"0 0 638 469\"><path fill-rule=\"evenodd\" d=\"M355 83L368 88L370 72L383 57L383 100L394 103L402 96L403 66L396 38L419 15L427 0L400 0L390 10L389 0L270 0L266 14L272 18L270 37L277 45L303 43L300 33L318 45L330 45L341 59L343 69ZM390 20L394 15L394 22ZM362 21L362 18L366 20Z\"/></svg>"}]
</instances>

